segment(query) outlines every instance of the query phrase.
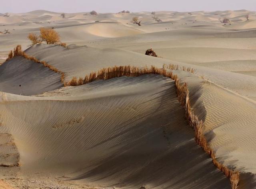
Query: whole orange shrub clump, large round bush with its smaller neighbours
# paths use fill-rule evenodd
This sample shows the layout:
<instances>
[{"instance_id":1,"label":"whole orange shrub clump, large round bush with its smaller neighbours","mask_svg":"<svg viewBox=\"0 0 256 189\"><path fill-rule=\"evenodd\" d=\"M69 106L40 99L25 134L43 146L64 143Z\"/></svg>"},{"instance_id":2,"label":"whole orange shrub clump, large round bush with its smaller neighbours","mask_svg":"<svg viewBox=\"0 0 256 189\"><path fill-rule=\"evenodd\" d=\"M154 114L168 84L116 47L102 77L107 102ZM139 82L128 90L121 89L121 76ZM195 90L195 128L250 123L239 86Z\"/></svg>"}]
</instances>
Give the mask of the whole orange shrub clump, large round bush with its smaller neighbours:
<instances>
[{"instance_id":1,"label":"whole orange shrub clump, large round bush with its smaller neighbours","mask_svg":"<svg viewBox=\"0 0 256 189\"><path fill-rule=\"evenodd\" d=\"M30 33L28 34L28 39L31 41L32 45L46 42L46 44L58 44L66 47L66 43L60 42L60 36L53 28L40 28L39 36Z\"/></svg>"}]
</instances>

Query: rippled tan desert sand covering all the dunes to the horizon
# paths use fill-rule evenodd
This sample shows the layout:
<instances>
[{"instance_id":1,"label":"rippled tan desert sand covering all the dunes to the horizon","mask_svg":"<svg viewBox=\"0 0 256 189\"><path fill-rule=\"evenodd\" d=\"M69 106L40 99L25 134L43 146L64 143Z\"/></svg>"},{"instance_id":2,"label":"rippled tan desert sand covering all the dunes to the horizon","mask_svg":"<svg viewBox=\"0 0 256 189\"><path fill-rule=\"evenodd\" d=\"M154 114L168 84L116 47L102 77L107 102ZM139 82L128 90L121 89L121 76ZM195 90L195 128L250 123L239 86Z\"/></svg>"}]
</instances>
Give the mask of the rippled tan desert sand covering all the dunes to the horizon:
<instances>
[{"instance_id":1,"label":"rippled tan desert sand covering all the dunes to the horizon","mask_svg":"<svg viewBox=\"0 0 256 189\"><path fill-rule=\"evenodd\" d=\"M256 12L61 14L0 15L0 189L231 188L194 140L173 80L146 74L64 86L42 64L5 62L18 44L64 82L112 66L194 68L173 73L188 83L210 147L240 172L239 189L256 188ZM31 46L28 34L42 27L68 46Z\"/></svg>"}]
</instances>

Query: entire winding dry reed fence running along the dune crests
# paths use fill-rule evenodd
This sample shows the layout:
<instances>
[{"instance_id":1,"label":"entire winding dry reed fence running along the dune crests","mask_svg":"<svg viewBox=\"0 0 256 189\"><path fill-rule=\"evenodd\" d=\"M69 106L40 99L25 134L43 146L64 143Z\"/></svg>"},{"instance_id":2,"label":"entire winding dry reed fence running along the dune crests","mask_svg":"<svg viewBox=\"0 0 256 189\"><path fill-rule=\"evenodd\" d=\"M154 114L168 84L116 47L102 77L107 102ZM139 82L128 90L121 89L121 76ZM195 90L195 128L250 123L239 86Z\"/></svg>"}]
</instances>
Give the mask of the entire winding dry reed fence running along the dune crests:
<instances>
[{"instance_id":1,"label":"entire winding dry reed fence running along the dune crests","mask_svg":"<svg viewBox=\"0 0 256 189\"><path fill-rule=\"evenodd\" d=\"M238 189L239 185L239 171L230 169L227 166L223 165L222 163L218 162L213 149L209 146L206 137L203 134L202 127L204 126L204 122L198 119L198 116L194 114L192 111L190 97L189 97L189 90L188 84L180 84L180 80L177 75L174 75L172 72L168 72L166 69L170 70L182 70L190 73L194 73L195 70L193 68L186 68L180 67L178 65L169 64L163 65L163 68L156 68L155 66L144 66L144 67L136 67L136 66L114 66L109 68L102 68L98 70L98 72L91 72L90 74L86 75L84 78L80 77L78 80L76 77L73 77L70 82L64 82L64 72L59 71L57 68L50 66L45 61L39 61L38 59L27 55L24 51L22 51L21 46L18 45L14 48L14 52L10 51L7 60L10 60L14 56L23 56L28 60L32 60L34 62L44 64L45 67L53 70L56 73L61 74L61 82L64 83L64 86L79 86L83 84L87 84L96 80L108 80L116 77L136 77L141 76L144 74L156 74L162 75L164 77L171 78L175 82L176 92L178 101L185 109L185 116L189 123L189 125L194 130L195 134L195 141L200 145L206 153L212 158L212 163L222 171L226 177L230 177L230 185L231 189Z\"/></svg>"}]
</instances>

